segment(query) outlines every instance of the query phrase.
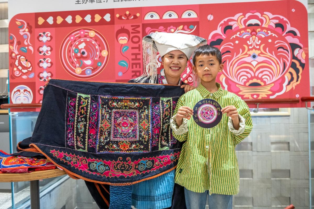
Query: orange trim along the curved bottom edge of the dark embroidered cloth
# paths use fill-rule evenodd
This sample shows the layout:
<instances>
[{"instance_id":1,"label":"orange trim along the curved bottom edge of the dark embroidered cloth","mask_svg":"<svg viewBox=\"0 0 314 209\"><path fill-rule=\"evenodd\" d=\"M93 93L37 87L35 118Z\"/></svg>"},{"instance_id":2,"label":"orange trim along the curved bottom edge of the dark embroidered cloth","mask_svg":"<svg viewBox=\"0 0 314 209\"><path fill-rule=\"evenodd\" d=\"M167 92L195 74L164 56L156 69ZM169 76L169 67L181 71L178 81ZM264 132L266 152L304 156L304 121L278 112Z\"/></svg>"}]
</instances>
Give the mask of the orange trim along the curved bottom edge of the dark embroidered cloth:
<instances>
[{"instance_id":1,"label":"orange trim along the curved bottom edge of the dark embroidered cloth","mask_svg":"<svg viewBox=\"0 0 314 209\"><path fill-rule=\"evenodd\" d=\"M149 179L154 179L154 178L156 178L156 177L158 177L158 176L161 176L161 175L163 175L163 174L165 174L165 173L168 173L168 172L170 172L170 171L172 171L173 169L176 168L176 166L175 166L175 167L171 168L170 170L164 171L164 172L162 172L162 173L159 173L159 174L157 174L157 175L151 176L151 177L146 178L146 179L141 179L141 180L138 180L138 181L134 181L134 182L132 182L132 183L122 183L122 184L121 184L121 183L101 182L101 181L95 181L95 180L91 180L91 179L84 178L84 177L82 177L82 176L80 176L80 175L78 175L78 174L76 174L76 173L73 173L73 172L69 171L69 170L66 169L66 168L63 168L62 166L60 166L60 165L58 165L56 162L54 162L50 157L48 157L48 156L47 156L43 151L41 151L41 149L39 149L35 144L30 144L30 146L34 146L41 154L43 154L45 157L47 157L47 159L49 159L49 160L50 160L53 164L55 164L57 167L62 168L68 175L69 175L69 173L70 173L71 175L73 175L73 176L75 176L75 177L77 177L77 178L79 178L79 179L83 179L83 180L85 180L85 181L90 181L90 182L94 182L94 183L98 183L98 184L109 184L109 185L114 185L114 186L132 185L132 184L136 184L136 183L139 183L139 182L142 182L142 181L146 181L146 180L149 180Z\"/></svg>"}]
</instances>

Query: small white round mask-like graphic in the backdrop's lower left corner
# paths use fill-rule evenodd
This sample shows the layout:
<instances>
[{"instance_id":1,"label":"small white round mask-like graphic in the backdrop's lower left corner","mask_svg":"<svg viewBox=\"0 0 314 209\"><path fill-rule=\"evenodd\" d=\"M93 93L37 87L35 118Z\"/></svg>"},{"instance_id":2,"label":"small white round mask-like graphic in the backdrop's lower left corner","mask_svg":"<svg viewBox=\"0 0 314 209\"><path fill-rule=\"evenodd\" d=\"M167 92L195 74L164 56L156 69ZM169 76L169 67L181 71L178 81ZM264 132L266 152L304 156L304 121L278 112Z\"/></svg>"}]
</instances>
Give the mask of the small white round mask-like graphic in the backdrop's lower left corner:
<instances>
[{"instance_id":1,"label":"small white round mask-like graphic in the backdrop's lower left corner","mask_svg":"<svg viewBox=\"0 0 314 209\"><path fill-rule=\"evenodd\" d=\"M26 85L18 85L13 89L11 99L13 104L31 103L33 101L33 92Z\"/></svg>"}]
</instances>

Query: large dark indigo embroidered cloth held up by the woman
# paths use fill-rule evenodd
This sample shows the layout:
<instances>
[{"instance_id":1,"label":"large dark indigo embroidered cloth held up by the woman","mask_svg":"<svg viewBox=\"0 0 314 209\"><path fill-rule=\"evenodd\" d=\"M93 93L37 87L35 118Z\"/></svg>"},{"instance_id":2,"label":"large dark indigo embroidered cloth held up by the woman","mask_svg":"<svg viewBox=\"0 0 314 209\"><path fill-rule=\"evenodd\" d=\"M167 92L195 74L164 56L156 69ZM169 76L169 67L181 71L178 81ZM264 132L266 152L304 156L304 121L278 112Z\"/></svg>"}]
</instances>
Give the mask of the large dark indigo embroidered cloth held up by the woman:
<instances>
[{"instance_id":1,"label":"large dark indigo embroidered cloth held up by the woman","mask_svg":"<svg viewBox=\"0 0 314 209\"><path fill-rule=\"evenodd\" d=\"M170 85L51 80L34 133L21 146L30 144L69 174L95 183L154 178L176 166L181 143L153 118L168 124L183 92Z\"/></svg>"}]
</instances>

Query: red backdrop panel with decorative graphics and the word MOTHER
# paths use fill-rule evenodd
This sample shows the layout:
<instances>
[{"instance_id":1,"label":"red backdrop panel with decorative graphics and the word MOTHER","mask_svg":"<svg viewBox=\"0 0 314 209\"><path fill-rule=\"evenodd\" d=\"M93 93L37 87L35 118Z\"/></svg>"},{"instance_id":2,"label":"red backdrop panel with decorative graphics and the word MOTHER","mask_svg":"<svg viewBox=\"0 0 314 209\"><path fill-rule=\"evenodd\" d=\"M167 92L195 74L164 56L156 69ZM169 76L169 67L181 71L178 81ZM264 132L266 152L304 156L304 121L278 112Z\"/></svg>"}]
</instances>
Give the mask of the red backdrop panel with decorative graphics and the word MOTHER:
<instances>
[{"instance_id":1,"label":"red backdrop panel with decorative graphics and the word MOTHER","mask_svg":"<svg viewBox=\"0 0 314 209\"><path fill-rule=\"evenodd\" d=\"M290 0L18 14L9 23L10 102L41 102L48 78L138 77L142 37L156 31L208 39L223 54L217 82L242 99L309 96L306 19ZM192 84L191 60L182 79Z\"/></svg>"}]
</instances>

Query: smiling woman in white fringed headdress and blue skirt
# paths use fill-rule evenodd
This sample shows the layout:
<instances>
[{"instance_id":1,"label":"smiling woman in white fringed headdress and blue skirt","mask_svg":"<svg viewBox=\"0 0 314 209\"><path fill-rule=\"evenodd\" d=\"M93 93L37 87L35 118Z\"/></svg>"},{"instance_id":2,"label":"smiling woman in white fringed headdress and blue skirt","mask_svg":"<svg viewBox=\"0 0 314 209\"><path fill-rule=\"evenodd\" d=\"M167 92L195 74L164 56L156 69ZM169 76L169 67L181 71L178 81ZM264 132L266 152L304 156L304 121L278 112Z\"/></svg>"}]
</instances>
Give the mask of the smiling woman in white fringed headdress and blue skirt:
<instances>
[{"instance_id":1,"label":"smiling woman in white fringed headdress and blue skirt","mask_svg":"<svg viewBox=\"0 0 314 209\"><path fill-rule=\"evenodd\" d=\"M142 76L129 83L181 85L185 92L194 89L181 81L187 60L199 44L207 40L194 35L179 33L151 33L143 38ZM157 51L162 57L163 69L157 74ZM175 170L154 179L133 185L132 205L137 209L185 208L184 190L174 184ZM173 197L173 198L172 198Z\"/></svg>"}]
</instances>

